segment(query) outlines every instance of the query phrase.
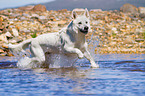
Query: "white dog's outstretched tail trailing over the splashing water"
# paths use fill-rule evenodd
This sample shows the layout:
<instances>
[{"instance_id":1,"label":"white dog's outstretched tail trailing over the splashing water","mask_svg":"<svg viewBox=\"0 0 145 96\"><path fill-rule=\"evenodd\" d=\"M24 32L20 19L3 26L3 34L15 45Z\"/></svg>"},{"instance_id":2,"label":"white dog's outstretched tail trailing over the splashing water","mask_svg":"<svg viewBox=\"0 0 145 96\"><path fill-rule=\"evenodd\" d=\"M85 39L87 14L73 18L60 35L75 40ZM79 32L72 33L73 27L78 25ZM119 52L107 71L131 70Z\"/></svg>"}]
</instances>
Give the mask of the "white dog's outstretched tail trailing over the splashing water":
<instances>
[{"instance_id":1,"label":"white dog's outstretched tail trailing over the splashing water","mask_svg":"<svg viewBox=\"0 0 145 96\"><path fill-rule=\"evenodd\" d=\"M25 52L25 49L28 48L29 44L31 44L32 39L25 40L17 45L13 45L11 43L8 44L8 48L10 51L14 53Z\"/></svg>"}]
</instances>

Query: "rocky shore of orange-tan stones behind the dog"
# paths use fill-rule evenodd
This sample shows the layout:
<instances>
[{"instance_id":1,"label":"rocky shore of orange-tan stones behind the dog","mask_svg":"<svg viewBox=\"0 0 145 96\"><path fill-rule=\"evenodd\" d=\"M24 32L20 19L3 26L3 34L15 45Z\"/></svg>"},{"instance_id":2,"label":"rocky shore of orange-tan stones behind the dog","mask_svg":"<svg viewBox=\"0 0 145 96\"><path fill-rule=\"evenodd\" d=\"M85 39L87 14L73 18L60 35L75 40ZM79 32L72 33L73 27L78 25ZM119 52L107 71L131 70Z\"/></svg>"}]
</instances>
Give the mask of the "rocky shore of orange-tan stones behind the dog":
<instances>
[{"instance_id":1,"label":"rocky shore of orange-tan stones behind the dog","mask_svg":"<svg viewBox=\"0 0 145 96\"><path fill-rule=\"evenodd\" d=\"M90 10L91 31L86 38L99 42L95 53L145 53L145 7L129 6L121 11ZM43 5L0 10L0 56L12 56L8 43L59 31L70 21L71 11L48 11Z\"/></svg>"}]
</instances>

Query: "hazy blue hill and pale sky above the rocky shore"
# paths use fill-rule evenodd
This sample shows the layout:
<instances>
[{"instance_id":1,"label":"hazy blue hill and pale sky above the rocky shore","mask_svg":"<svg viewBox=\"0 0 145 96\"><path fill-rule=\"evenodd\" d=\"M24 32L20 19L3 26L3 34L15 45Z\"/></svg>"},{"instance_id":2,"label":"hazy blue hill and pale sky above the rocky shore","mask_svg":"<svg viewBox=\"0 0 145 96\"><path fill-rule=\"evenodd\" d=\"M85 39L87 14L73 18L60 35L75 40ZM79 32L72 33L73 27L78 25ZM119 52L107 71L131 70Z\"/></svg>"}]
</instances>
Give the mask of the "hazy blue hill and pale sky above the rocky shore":
<instances>
[{"instance_id":1,"label":"hazy blue hill and pale sky above the rocky shore","mask_svg":"<svg viewBox=\"0 0 145 96\"><path fill-rule=\"evenodd\" d=\"M119 10L126 3L136 7L145 6L145 0L0 0L0 10L39 3L45 5L47 10L72 10L74 8Z\"/></svg>"}]
</instances>

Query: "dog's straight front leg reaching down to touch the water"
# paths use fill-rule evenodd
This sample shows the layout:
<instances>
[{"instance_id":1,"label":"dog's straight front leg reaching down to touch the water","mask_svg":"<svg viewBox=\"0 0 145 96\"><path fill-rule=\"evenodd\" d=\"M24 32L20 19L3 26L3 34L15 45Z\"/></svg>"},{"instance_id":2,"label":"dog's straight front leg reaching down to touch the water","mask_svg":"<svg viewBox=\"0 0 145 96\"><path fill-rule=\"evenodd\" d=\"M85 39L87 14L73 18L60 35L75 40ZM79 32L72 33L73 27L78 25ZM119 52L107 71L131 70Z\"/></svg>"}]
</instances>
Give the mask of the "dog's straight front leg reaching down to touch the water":
<instances>
[{"instance_id":1,"label":"dog's straight front leg reaching down to touch the water","mask_svg":"<svg viewBox=\"0 0 145 96\"><path fill-rule=\"evenodd\" d=\"M88 44L84 45L83 52L84 52L85 58L90 61L91 67L92 68L99 68L99 65L95 63L93 57L91 56L90 52L88 51Z\"/></svg>"}]
</instances>

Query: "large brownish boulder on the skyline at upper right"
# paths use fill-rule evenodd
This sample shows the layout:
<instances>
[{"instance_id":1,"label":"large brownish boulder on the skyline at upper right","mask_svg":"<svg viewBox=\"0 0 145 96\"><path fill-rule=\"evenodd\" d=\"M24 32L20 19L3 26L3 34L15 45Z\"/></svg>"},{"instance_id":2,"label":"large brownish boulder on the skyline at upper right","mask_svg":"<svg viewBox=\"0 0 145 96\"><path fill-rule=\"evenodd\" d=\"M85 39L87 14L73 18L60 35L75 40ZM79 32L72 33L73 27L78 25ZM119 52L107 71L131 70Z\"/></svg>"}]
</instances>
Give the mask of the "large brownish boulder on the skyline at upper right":
<instances>
[{"instance_id":1,"label":"large brownish boulder on the skyline at upper right","mask_svg":"<svg viewBox=\"0 0 145 96\"><path fill-rule=\"evenodd\" d=\"M124 13L138 13L138 8L132 4L124 4L121 8L120 11Z\"/></svg>"}]
</instances>

